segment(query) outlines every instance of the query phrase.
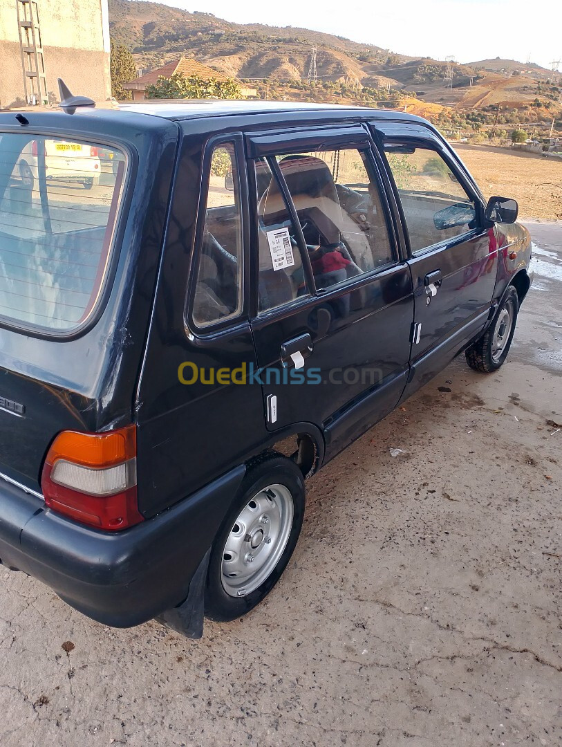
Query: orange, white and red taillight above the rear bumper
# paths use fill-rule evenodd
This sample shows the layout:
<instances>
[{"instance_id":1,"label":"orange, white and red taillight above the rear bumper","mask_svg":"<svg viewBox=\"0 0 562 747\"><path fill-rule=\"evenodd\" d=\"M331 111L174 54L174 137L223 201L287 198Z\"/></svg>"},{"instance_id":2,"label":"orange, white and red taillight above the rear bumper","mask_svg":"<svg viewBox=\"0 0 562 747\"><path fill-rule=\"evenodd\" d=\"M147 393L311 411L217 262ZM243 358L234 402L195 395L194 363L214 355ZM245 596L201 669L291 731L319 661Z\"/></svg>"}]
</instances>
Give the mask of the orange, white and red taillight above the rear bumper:
<instances>
[{"instance_id":1,"label":"orange, white and red taillight above the rear bumper","mask_svg":"<svg viewBox=\"0 0 562 747\"><path fill-rule=\"evenodd\" d=\"M43 467L46 506L82 524L116 531L143 521L137 503L137 431L65 430Z\"/></svg>"}]
</instances>

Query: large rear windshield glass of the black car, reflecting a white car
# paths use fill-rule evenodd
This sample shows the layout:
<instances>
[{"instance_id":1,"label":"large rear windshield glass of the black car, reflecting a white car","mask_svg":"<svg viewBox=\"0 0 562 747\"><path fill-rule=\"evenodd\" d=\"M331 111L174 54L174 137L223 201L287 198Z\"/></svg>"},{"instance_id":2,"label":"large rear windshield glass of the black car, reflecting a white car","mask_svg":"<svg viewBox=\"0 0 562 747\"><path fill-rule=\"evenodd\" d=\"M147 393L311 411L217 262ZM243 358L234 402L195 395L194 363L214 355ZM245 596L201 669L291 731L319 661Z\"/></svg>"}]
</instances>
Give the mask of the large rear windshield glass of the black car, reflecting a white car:
<instances>
[{"instance_id":1,"label":"large rear windshield glass of the black car, reflecting a white car","mask_svg":"<svg viewBox=\"0 0 562 747\"><path fill-rule=\"evenodd\" d=\"M102 292L125 155L78 140L0 135L0 317L69 332Z\"/></svg>"}]
</instances>

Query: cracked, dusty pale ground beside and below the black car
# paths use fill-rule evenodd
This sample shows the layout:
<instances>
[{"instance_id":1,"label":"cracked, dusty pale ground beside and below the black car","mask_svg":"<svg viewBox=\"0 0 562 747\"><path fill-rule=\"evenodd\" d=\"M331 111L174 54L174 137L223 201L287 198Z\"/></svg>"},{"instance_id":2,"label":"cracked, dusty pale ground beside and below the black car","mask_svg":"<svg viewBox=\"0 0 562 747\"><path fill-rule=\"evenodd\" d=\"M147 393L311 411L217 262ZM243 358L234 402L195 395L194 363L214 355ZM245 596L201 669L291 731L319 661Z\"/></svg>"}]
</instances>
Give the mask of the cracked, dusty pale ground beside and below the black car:
<instances>
[{"instance_id":1,"label":"cracked, dusty pale ground beside and below the black car","mask_svg":"<svg viewBox=\"0 0 562 747\"><path fill-rule=\"evenodd\" d=\"M562 223L530 229L508 362L459 359L313 477L246 619L109 629L1 569L1 746L560 745Z\"/></svg>"}]
</instances>

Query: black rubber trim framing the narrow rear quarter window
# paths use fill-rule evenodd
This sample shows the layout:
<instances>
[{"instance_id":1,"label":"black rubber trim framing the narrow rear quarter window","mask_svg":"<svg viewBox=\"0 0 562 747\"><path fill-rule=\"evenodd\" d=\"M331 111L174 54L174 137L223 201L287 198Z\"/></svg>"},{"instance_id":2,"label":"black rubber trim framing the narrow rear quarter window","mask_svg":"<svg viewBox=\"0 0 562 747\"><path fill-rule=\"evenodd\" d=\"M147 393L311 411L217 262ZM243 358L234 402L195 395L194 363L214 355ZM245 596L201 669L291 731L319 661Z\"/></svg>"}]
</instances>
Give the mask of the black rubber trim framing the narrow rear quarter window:
<instances>
[{"instance_id":1,"label":"black rubber trim framing the narrow rear quarter window","mask_svg":"<svg viewBox=\"0 0 562 747\"><path fill-rule=\"evenodd\" d=\"M201 259L204 238L204 224L207 217L210 164L213 158L213 152L218 146L224 143L230 143L234 147L234 159L237 166L238 191L240 196L240 260L242 262L240 267L240 313L231 314L228 317L212 321L202 326L201 324L198 324L193 317L193 304L195 303L195 292L199 276L199 261ZM248 179L246 173L246 158L244 157L243 150L243 134L241 132L215 135L214 137L210 137L206 143L204 143L195 223L196 228L186 289L186 302L184 303L184 325L190 334L196 335L200 338L207 338L219 334L220 332L228 331L248 318L249 273L248 262L246 261L246 247L249 246Z\"/></svg>"}]
</instances>

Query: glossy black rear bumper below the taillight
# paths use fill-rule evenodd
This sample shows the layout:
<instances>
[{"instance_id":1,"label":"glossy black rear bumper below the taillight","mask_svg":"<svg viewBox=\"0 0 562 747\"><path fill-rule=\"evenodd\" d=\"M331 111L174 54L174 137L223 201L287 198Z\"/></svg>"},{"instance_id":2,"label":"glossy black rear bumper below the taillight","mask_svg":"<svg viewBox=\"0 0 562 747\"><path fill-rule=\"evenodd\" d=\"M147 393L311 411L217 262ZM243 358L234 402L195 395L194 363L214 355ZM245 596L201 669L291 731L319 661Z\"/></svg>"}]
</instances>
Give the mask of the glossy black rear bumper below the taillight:
<instances>
[{"instance_id":1,"label":"glossy black rear bumper below the taillight","mask_svg":"<svg viewBox=\"0 0 562 747\"><path fill-rule=\"evenodd\" d=\"M115 627L187 598L245 468L235 468L160 515L123 532L83 527L0 480L0 560L37 578L84 615Z\"/></svg>"}]
</instances>

